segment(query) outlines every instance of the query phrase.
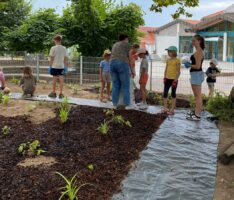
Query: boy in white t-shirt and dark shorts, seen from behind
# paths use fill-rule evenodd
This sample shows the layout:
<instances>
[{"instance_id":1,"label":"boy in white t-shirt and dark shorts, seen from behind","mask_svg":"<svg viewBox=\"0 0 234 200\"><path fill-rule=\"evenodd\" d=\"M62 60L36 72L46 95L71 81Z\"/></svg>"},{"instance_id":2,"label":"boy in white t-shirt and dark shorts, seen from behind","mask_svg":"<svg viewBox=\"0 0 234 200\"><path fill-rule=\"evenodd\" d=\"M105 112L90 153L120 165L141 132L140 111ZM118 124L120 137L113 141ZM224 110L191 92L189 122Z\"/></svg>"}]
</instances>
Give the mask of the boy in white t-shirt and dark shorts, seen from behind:
<instances>
[{"instance_id":1,"label":"boy in white t-shirt and dark shorts, seen from behind","mask_svg":"<svg viewBox=\"0 0 234 200\"><path fill-rule=\"evenodd\" d=\"M64 98L63 85L66 66L68 65L68 53L66 47L62 46L62 36L54 37L55 46L50 49L50 74L53 76L53 91L49 97L56 98L56 83L59 80L60 93L59 98Z\"/></svg>"}]
</instances>

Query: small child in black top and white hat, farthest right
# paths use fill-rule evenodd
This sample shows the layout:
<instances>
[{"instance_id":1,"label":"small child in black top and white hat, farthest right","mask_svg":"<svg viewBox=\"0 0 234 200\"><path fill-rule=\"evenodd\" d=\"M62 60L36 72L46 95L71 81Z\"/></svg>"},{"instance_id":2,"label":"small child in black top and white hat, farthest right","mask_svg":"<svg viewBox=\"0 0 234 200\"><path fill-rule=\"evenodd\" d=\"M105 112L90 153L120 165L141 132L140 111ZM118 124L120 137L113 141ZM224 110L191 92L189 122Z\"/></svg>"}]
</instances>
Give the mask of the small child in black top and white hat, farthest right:
<instances>
[{"instance_id":1,"label":"small child in black top and white hat, farthest right","mask_svg":"<svg viewBox=\"0 0 234 200\"><path fill-rule=\"evenodd\" d=\"M217 68L218 61L216 59L211 59L210 67L206 70L207 79L206 82L209 87L209 97L214 96L214 84L216 83L216 75L220 73Z\"/></svg>"}]
</instances>

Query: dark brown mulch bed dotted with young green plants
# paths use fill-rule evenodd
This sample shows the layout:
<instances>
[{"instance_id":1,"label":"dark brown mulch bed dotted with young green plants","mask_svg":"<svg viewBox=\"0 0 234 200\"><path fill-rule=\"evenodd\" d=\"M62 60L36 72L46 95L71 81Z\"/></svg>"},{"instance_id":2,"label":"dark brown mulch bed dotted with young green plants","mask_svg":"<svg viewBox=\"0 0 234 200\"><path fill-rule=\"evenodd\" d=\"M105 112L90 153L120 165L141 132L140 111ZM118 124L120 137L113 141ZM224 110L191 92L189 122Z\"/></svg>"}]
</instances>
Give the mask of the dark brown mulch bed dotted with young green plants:
<instances>
[{"instance_id":1,"label":"dark brown mulch bed dotted with young green plants","mask_svg":"<svg viewBox=\"0 0 234 200\"><path fill-rule=\"evenodd\" d=\"M139 153L151 140L165 119L137 111L117 111L129 120L133 128L112 125L110 134L100 135L96 129L103 122L102 109L74 107L69 121L62 125L59 118L33 125L27 117L0 116L0 128L11 127L11 134L0 135L0 194L2 200L57 200L63 181L55 175L61 172L69 178L79 172L80 183L91 183L80 190L79 200L106 200L120 190L121 181L139 159ZM51 167L17 166L25 157L17 152L18 145L40 140L48 156L57 160ZM87 165L92 163L94 171Z\"/></svg>"}]
</instances>

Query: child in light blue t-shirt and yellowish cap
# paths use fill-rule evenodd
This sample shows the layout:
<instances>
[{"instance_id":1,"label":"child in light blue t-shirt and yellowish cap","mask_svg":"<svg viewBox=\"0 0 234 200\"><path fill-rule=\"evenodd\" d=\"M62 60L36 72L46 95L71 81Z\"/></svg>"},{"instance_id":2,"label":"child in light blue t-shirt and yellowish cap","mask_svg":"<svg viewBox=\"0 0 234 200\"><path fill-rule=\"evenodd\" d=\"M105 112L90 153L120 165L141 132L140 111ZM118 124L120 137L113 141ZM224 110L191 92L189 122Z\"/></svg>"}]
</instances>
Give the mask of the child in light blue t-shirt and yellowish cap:
<instances>
[{"instance_id":1,"label":"child in light blue t-shirt and yellowish cap","mask_svg":"<svg viewBox=\"0 0 234 200\"><path fill-rule=\"evenodd\" d=\"M99 76L101 81L101 97L100 100L104 100L104 90L107 89L108 100L111 101L110 86L111 86L111 75L110 75L110 58L111 51L105 50L103 53L104 60L100 63Z\"/></svg>"}]
</instances>

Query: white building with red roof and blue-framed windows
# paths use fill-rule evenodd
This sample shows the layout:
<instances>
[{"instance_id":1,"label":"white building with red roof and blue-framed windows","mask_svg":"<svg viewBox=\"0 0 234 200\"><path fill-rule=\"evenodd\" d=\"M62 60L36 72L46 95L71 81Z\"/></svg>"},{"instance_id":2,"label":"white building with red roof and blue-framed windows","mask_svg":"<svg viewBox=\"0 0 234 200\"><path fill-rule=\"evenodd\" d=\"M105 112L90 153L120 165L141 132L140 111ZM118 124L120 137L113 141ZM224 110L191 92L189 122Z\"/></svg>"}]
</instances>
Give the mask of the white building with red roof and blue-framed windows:
<instances>
[{"instance_id":1,"label":"white building with red roof and blue-framed windows","mask_svg":"<svg viewBox=\"0 0 234 200\"><path fill-rule=\"evenodd\" d=\"M234 62L234 4L207 15L201 20L177 19L155 31L156 54L167 55L168 46L176 46L179 54L192 54L192 36L205 38L205 58Z\"/></svg>"}]
</instances>

